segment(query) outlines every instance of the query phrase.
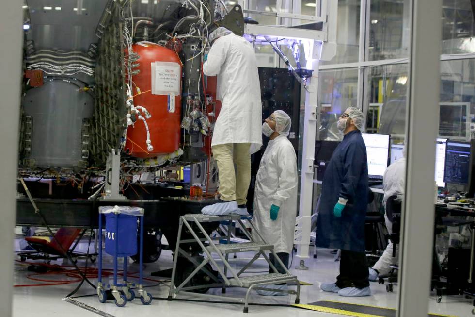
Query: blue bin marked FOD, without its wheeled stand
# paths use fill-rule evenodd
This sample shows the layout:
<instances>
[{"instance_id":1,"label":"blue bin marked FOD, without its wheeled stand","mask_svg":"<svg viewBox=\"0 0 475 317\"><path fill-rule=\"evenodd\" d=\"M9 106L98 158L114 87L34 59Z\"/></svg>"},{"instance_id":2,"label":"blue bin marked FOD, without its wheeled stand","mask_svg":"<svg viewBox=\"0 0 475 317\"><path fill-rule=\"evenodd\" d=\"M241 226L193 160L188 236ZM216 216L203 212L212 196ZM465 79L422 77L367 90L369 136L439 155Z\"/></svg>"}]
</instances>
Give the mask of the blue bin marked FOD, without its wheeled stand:
<instances>
[{"instance_id":1,"label":"blue bin marked FOD, without its wheeled stand","mask_svg":"<svg viewBox=\"0 0 475 317\"><path fill-rule=\"evenodd\" d=\"M137 254L137 216L126 214L104 214L106 217L105 244L106 253L124 257ZM118 222L117 233L115 223ZM118 237L117 254L115 252L115 239Z\"/></svg>"}]
</instances>

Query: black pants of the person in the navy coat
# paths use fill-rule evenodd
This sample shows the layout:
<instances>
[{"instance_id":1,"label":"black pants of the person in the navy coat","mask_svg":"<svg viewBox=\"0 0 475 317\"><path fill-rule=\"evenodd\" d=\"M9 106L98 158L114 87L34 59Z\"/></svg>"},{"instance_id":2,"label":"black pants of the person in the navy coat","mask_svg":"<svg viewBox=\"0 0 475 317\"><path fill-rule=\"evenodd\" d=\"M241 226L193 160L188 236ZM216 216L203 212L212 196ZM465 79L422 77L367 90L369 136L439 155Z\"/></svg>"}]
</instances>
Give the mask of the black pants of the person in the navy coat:
<instances>
[{"instance_id":1,"label":"black pants of the person in the navy coat","mask_svg":"<svg viewBox=\"0 0 475 317\"><path fill-rule=\"evenodd\" d=\"M366 254L341 250L340 275L336 277L336 286L339 288L369 286L368 263Z\"/></svg>"}]
</instances>

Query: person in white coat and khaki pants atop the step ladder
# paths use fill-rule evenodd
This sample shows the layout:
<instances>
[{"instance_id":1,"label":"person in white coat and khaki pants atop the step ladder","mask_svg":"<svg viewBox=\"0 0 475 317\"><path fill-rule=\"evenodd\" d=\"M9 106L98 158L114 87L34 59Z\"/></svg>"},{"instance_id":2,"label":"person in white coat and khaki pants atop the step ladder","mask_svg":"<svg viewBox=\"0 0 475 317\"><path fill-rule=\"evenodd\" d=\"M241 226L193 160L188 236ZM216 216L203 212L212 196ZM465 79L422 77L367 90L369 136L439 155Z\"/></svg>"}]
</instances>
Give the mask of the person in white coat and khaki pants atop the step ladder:
<instances>
[{"instance_id":1,"label":"person in white coat and khaki pants atop the step ladder","mask_svg":"<svg viewBox=\"0 0 475 317\"><path fill-rule=\"evenodd\" d=\"M218 75L217 99L222 101L211 140L218 165L220 202L206 206L202 212L245 215L251 154L262 146L262 104L255 53L244 37L223 27L210 33L209 41L212 46L203 73Z\"/></svg>"}]
</instances>

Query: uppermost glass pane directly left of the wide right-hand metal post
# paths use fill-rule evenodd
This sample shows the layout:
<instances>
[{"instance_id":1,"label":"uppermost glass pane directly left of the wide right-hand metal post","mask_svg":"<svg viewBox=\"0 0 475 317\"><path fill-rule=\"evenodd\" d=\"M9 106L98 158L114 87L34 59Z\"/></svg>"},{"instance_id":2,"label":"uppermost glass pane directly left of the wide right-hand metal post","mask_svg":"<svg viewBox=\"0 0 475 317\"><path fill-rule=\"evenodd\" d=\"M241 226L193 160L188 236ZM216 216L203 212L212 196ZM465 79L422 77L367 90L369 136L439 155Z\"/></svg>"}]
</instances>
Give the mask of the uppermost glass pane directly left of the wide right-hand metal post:
<instances>
[{"instance_id":1,"label":"uppermost glass pane directly left of the wide right-hand metal post","mask_svg":"<svg viewBox=\"0 0 475 317\"><path fill-rule=\"evenodd\" d=\"M372 0L369 60L408 57L409 1Z\"/></svg>"}]
</instances>

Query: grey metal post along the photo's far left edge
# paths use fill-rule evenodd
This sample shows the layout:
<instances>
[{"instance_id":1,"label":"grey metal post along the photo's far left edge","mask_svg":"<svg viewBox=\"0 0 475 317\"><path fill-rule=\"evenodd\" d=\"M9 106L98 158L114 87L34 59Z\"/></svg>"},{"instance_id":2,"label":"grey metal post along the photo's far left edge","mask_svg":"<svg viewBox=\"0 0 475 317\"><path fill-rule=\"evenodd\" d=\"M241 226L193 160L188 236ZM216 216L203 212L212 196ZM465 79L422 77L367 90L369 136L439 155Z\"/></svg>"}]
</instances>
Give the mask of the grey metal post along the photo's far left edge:
<instances>
[{"instance_id":1,"label":"grey metal post along the photo's far left edge","mask_svg":"<svg viewBox=\"0 0 475 317\"><path fill-rule=\"evenodd\" d=\"M12 315L13 293L13 246L16 211L16 173L18 167L18 133L20 118L20 83L22 59L22 9L21 2L16 0L2 1L0 10L0 38L8 43L2 48L0 70L4 76L0 78L2 96L0 125L3 136L0 145L5 150L2 155L2 181L0 197L3 207L0 222L0 237L7 252L0 257L0 281L6 288L0 299L1 316Z\"/></svg>"}]
</instances>

